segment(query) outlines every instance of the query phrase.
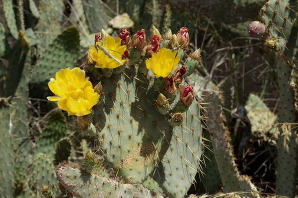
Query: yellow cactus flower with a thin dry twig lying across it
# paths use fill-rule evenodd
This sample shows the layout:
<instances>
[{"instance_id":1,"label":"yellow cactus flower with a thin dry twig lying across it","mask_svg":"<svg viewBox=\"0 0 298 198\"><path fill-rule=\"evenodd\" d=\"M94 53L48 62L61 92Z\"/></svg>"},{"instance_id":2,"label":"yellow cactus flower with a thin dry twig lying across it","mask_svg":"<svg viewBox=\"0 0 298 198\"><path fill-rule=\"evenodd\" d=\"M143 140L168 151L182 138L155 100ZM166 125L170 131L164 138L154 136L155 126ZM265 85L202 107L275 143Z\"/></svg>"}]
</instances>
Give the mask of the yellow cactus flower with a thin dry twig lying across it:
<instances>
[{"instance_id":1,"label":"yellow cactus flower with a thin dry twig lying across it","mask_svg":"<svg viewBox=\"0 0 298 198\"><path fill-rule=\"evenodd\" d=\"M100 48L90 46L88 55L91 60L96 62L95 67L112 69L118 66L122 66L126 62L125 59L122 60L122 55L126 51L126 45L121 46L121 39L119 37L114 38L108 35L105 40L96 42L96 44L99 44L103 48L105 48L113 57L118 59L122 64L108 56Z\"/></svg>"}]
</instances>

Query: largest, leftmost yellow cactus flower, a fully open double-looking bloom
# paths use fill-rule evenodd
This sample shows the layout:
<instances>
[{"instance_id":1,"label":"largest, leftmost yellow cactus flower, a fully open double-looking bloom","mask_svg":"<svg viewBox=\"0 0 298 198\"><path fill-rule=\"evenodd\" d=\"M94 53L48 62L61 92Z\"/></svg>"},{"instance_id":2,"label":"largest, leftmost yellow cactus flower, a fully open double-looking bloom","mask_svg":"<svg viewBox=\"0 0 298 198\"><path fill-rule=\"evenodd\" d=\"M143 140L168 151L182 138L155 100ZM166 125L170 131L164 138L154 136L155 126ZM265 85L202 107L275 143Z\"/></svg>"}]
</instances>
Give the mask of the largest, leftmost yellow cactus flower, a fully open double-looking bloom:
<instances>
[{"instance_id":1,"label":"largest, leftmost yellow cactus flower, a fully open double-looking bloom","mask_svg":"<svg viewBox=\"0 0 298 198\"><path fill-rule=\"evenodd\" d=\"M88 79L85 71L78 67L61 69L48 83L50 90L57 96L47 99L58 102L58 107L68 111L69 116L90 114L91 108L98 103L99 95Z\"/></svg>"}]
</instances>

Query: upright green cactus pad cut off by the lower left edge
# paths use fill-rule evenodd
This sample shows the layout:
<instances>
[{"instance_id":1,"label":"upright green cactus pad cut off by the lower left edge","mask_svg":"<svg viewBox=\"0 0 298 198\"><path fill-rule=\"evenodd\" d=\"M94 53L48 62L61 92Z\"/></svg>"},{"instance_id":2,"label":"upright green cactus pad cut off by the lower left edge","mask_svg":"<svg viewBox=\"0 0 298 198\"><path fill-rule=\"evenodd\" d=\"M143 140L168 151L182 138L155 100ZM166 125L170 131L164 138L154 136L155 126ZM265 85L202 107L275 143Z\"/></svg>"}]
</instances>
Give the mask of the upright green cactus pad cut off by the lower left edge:
<instances>
[{"instance_id":1,"label":"upright green cactus pad cut off by the lower left edge","mask_svg":"<svg viewBox=\"0 0 298 198\"><path fill-rule=\"evenodd\" d=\"M0 109L0 197L13 197L13 147L11 136L11 108Z\"/></svg>"}]
</instances>

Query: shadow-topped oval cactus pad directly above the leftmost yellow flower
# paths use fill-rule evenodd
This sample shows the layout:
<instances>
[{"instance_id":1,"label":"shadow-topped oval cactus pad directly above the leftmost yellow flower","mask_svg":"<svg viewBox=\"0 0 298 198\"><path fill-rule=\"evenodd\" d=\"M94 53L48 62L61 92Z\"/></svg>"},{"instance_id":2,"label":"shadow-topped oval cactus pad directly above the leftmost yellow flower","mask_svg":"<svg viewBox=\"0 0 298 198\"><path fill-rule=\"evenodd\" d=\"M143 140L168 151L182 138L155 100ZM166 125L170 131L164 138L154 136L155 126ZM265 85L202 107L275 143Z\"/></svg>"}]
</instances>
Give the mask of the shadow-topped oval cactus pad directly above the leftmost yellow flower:
<instances>
[{"instance_id":1,"label":"shadow-topped oval cactus pad directly above the leftmost yellow flower","mask_svg":"<svg viewBox=\"0 0 298 198\"><path fill-rule=\"evenodd\" d=\"M59 69L73 67L79 53L79 35L74 27L66 29L52 44L50 44L42 57L37 61L31 76L32 83L46 82Z\"/></svg>"}]
</instances>

